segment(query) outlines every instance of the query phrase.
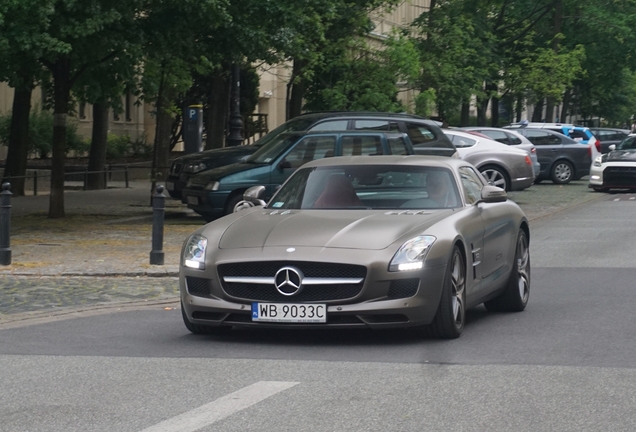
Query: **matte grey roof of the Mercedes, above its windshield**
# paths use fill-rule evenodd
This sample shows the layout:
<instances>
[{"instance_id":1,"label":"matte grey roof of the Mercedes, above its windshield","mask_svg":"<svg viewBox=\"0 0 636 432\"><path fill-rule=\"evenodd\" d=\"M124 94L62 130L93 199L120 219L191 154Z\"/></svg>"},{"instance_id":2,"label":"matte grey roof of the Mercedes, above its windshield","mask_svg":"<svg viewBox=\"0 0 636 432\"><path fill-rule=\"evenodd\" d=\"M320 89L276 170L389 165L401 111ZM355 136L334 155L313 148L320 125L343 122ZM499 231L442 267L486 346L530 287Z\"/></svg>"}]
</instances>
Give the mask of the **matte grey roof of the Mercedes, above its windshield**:
<instances>
[{"instance_id":1,"label":"matte grey roof of the Mercedes, above its windshield","mask_svg":"<svg viewBox=\"0 0 636 432\"><path fill-rule=\"evenodd\" d=\"M336 156L307 162L303 167L328 167L342 165L418 165L455 170L460 166L471 166L461 159L444 156Z\"/></svg>"}]
</instances>

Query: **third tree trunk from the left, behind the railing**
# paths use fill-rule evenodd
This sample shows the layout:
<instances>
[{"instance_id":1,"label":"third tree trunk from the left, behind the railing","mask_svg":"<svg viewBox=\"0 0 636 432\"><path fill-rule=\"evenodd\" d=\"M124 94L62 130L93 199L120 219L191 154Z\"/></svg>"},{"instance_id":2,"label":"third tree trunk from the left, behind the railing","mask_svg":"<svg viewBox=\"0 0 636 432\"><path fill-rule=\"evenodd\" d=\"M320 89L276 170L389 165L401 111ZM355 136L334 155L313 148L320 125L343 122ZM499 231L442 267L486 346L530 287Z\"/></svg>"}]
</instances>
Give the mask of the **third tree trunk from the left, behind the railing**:
<instances>
[{"instance_id":1,"label":"third tree trunk from the left, behind the railing","mask_svg":"<svg viewBox=\"0 0 636 432\"><path fill-rule=\"evenodd\" d=\"M86 188L89 190L106 189L106 149L108 145L108 103L93 104L93 133L91 148L88 153L88 179Z\"/></svg>"}]
</instances>

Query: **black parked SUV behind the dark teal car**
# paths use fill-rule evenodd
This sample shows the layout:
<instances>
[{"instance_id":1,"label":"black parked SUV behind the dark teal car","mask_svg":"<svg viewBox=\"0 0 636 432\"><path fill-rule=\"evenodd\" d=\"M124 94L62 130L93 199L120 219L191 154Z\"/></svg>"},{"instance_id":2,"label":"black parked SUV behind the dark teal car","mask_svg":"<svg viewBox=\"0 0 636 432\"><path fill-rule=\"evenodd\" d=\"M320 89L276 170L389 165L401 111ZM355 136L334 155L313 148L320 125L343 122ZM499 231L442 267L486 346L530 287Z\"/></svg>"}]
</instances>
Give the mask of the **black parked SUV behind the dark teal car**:
<instances>
[{"instance_id":1,"label":"black parked SUV behind the dark teal car","mask_svg":"<svg viewBox=\"0 0 636 432\"><path fill-rule=\"evenodd\" d=\"M170 167L166 189L181 199L188 179L203 171L245 160L280 134L299 131L373 130L402 132L409 136L418 154L457 157L457 151L433 120L409 114L374 112L322 112L303 114L283 123L253 145L206 150L176 158Z\"/></svg>"}]
</instances>

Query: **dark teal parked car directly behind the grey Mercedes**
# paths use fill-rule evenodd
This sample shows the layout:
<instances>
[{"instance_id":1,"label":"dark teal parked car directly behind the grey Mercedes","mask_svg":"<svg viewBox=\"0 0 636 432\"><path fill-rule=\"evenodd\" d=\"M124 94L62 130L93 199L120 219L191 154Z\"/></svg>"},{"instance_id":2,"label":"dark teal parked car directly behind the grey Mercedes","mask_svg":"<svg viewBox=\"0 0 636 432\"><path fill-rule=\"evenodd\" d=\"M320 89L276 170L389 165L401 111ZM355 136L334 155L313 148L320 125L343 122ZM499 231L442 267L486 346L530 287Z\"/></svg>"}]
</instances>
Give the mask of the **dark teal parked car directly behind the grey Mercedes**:
<instances>
[{"instance_id":1,"label":"dark teal parked car directly behind the grey Mercedes","mask_svg":"<svg viewBox=\"0 0 636 432\"><path fill-rule=\"evenodd\" d=\"M211 221L234 211L243 192L256 185L269 199L301 165L331 156L409 155L413 145L401 132L291 132L277 136L244 162L190 177L182 194L188 207Z\"/></svg>"}]
</instances>

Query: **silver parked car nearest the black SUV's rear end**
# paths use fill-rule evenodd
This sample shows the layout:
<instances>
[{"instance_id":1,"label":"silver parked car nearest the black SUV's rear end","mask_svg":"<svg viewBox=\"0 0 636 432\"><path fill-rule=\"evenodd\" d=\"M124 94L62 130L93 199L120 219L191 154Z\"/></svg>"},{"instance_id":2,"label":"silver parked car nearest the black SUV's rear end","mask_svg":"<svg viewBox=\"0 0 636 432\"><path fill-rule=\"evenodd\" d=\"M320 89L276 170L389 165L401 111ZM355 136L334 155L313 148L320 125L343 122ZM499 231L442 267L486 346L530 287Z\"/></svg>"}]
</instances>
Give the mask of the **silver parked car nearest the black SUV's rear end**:
<instances>
[{"instance_id":1,"label":"silver parked car nearest the black SUV's rear end","mask_svg":"<svg viewBox=\"0 0 636 432\"><path fill-rule=\"evenodd\" d=\"M517 191L534 183L532 159L525 150L456 129L444 129L444 133L457 147L459 157L475 165L490 184Z\"/></svg>"}]
</instances>

